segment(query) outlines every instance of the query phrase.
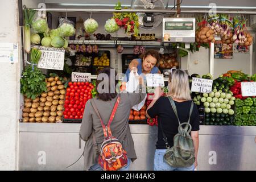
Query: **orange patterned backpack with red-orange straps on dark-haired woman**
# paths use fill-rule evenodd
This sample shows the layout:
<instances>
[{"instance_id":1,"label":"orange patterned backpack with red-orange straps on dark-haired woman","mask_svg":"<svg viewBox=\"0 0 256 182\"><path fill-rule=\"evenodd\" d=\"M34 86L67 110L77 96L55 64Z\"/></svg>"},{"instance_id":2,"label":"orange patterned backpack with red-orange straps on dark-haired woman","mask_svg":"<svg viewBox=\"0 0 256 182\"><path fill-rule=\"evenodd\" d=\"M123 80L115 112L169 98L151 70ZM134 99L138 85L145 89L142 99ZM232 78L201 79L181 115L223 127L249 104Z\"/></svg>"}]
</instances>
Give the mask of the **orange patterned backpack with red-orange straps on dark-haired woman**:
<instances>
[{"instance_id":1,"label":"orange patterned backpack with red-orange straps on dark-haired woman","mask_svg":"<svg viewBox=\"0 0 256 182\"><path fill-rule=\"evenodd\" d=\"M117 138L112 136L110 130L110 124L112 123L115 112L117 111L119 101L120 97L117 98L112 114L110 115L108 125L105 126L104 122L102 122L102 119L100 117L100 113L98 112L98 109L94 101L92 100L93 109L96 111L96 114L100 118L101 125L104 131L105 138L103 140L103 143L101 144L100 152L96 144L95 136L93 135L93 145L96 146L96 151L99 155L98 164L100 164L101 168L104 169L104 171L117 171L118 169L125 167L127 165L127 153L123 149L122 143L119 142Z\"/></svg>"}]
</instances>

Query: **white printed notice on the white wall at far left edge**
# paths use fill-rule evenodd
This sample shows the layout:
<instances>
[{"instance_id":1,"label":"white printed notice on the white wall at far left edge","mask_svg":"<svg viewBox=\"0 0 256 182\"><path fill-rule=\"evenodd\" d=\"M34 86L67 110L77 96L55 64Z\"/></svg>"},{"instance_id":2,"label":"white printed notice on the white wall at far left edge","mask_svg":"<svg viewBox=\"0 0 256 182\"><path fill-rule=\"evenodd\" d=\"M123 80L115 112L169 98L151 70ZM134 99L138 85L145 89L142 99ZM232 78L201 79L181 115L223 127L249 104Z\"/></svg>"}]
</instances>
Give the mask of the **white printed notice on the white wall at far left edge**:
<instances>
[{"instance_id":1,"label":"white printed notice on the white wall at far left edge","mask_svg":"<svg viewBox=\"0 0 256 182\"><path fill-rule=\"evenodd\" d=\"M18 63L18 43L0 43L0 63Z\"/></svg>"}]
</instances>

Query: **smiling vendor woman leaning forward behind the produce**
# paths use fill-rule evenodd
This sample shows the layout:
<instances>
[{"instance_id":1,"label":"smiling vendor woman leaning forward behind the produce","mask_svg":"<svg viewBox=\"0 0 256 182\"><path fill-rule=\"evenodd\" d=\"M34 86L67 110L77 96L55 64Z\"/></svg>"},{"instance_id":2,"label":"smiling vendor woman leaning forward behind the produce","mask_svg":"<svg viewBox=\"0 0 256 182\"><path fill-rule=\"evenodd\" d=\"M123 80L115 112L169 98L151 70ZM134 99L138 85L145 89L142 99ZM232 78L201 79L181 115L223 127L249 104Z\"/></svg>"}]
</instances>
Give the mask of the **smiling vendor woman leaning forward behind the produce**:
<instances>
[{"instance_id":1,"label":"smiling vendor woman leaning forward behind the produce","mask_svg":"<svg viewBox=\"0 0 256 182\"><path fill-rule=\"evenodd\" d=\"M146 75L147 73L161 73L158 67L156 67L160 59L158 51L148 50L141 56L141 58L142 59L134 59L129 64L129 68L125 73L126 82L129 81L129 74L131 71L136 70L138 75L141 75L142 73L144 75Z\"/></svg>"}]
</instances>

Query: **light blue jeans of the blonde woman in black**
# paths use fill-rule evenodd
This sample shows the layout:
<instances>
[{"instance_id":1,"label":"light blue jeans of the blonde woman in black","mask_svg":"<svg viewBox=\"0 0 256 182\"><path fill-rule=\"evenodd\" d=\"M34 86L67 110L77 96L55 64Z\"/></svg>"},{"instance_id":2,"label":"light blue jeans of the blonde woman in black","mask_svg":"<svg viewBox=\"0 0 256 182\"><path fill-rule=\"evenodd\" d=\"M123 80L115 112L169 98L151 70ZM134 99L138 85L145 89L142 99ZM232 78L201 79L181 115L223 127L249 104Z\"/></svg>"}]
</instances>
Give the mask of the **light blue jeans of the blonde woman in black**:
<instances>
[{"instance_id":1,"label":"light blue jeans of the blonde woman in black","mask_svg":"<svg viewBox=\"0 0 256 182\"><path fill-rule=\"evenodd\" d=\"M194 164L191 167L171 167L169 164L164 162L163 156L166 152L166 149L156 149L155 150L155 159L154 159L154 171L194 171Z\"/></svg>"}]
</instances>

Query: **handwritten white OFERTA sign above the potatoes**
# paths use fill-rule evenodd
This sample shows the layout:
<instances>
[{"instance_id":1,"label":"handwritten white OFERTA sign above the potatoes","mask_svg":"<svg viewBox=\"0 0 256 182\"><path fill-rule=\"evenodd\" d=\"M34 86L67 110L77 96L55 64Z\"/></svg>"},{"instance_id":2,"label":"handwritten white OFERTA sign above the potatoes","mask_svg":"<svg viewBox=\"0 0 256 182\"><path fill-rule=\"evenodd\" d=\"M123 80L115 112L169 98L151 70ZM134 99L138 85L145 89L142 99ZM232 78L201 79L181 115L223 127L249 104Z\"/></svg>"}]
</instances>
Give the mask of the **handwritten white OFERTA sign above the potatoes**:
<instances>
[{"instance_id":1,"label":"handwritten white OFERTA sign above the potatoes","mask_svg":"<svg viewBox=\"0 0 256 182\"><path fill-rule=\"evenodd\" d=\"M35 47L42 51L38 68L63 70L65 49L44 46Z\"/></svg>"}]
</instances>

